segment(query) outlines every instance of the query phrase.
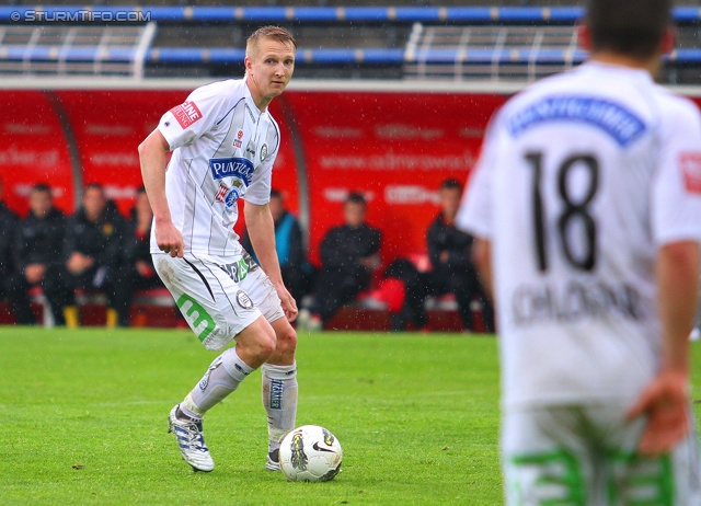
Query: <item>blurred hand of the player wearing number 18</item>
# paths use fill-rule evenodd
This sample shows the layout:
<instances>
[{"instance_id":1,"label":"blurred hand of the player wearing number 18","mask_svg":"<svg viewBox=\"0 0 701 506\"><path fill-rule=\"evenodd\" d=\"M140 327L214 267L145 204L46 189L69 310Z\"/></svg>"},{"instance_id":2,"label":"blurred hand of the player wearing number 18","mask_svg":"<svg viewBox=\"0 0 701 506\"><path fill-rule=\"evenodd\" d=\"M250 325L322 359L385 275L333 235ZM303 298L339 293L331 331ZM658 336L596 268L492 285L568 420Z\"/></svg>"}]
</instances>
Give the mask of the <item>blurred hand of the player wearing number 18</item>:
<instances>
[{"instance_id":1,"label":"blurred hand of the player wearing number 18","mask_svg":"<svg viewBox=\"0 0 701 506\"><path fill-rule=\"evenodd\" d=\"M647 415L637 451L652 457L674 448L689 432L688 405L687 375L675 371L657 375L628 411L629 419Z\"/></svg>"}]
</instances>

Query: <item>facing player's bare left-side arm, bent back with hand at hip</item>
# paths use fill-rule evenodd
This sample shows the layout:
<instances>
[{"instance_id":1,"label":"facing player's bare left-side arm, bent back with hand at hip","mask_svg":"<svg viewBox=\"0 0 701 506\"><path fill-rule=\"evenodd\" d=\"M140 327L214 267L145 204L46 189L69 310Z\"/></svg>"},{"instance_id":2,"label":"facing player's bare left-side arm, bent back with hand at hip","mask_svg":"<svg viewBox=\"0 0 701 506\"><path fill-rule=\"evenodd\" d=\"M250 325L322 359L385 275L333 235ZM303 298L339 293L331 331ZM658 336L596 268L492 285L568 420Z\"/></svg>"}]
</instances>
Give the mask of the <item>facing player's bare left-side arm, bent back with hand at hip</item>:
<instances>
[{"instance_id":1,"label":"facing player's bare left-side arm, bent back with hand at hip","mask_svg":"<svg viewBox=\"0 0 701 506\"><path fill-rule=\"evenodd\" d=\"M153 130L139 145L139 160L143 187L153 209L156 242L161 251L171 256L183 256L183 235L171 219L171 211L165 197L165 165L168 141L158 129Z\"/></svg>"}]
</instances>

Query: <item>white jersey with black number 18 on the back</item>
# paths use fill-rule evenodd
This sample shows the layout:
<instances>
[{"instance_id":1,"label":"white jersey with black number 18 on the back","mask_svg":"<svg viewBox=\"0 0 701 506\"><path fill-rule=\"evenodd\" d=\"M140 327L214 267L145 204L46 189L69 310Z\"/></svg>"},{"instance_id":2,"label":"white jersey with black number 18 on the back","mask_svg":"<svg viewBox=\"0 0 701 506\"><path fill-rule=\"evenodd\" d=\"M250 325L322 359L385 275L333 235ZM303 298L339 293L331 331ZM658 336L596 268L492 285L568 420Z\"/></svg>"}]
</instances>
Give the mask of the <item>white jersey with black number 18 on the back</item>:
<instances>
[{"instance_id":1,"label":"white jersey with black number 18 on the back","mask_svg":"<svg viewBox=\"0 0 701 506\"><path fill-rule=\"evenodd\" d=\"M492 243L503 400L631 399L659 367L657 249L701 241L701 118L587 62L492 118L458 226Z\"/></svg>"}]
</instances>

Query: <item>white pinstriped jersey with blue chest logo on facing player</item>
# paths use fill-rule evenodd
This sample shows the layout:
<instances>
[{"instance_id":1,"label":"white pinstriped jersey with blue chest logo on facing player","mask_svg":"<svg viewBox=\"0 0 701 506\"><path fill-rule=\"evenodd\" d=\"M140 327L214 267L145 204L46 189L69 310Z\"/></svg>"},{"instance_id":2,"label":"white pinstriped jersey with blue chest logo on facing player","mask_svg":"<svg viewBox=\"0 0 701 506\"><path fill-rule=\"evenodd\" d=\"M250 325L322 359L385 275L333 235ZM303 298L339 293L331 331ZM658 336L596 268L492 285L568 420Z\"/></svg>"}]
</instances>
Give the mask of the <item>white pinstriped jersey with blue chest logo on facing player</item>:
<instances>
[{"instance_id":1,"label":"white pinstriped jersey with blue chest logo on facing player","mask_svg":"<svg viewBox=\"0 0 701 506\"><path fill-rule=\"evenodd\" d=\"M237 202L268 203L277 124L267 110L258 111L244 80L227 80L193 91L161 117L158 129L173 151L165 193L185 253L240 254ZM151 252L160 252L154 233Z\"/></svg>"}]
</instances>

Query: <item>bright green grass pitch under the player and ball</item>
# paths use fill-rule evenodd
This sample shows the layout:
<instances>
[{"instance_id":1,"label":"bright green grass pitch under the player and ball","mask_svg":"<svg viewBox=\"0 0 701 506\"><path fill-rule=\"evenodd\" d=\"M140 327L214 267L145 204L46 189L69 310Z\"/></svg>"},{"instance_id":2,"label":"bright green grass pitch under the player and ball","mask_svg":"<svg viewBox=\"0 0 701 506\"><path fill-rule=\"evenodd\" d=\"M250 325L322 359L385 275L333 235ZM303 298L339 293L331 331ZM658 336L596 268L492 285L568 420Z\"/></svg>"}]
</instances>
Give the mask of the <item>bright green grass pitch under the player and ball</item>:
<instances>
[{"instance_id":1,"label":"bright green grass pitch under the player and ball","mask_svg":"<svg viewBox=\"0 0 701 506\"><path fill-rule=\"evenodd\" d=\"M344 449L329 483L264 469L260 372L207 415L215 471L181 459L168 413L215 356L182 330L0 327L0 504L502 504L496 340L302 333L297 423Z\"/></svg>"}]
</instances>

